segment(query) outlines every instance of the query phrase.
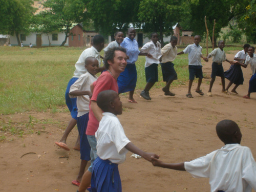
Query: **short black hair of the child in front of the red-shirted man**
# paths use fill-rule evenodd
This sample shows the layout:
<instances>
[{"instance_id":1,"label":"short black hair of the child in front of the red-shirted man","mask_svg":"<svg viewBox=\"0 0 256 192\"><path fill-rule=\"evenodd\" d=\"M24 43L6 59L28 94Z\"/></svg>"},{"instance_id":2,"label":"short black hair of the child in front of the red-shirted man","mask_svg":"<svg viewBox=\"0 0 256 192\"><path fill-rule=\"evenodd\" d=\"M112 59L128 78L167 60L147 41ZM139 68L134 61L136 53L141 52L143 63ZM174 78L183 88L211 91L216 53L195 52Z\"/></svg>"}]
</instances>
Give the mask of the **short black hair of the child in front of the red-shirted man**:
<instances>
[{"instance_id":1,"label":"short black hair of the child in front of the red-shirted man","mask_svg":"<svg viewBox=\"0 0 256 192\"><path fill-rule=\"evenodd\" d=\"M110 102L118 97L118 93L113 90L105 90L98 94L97 105L103 112L109 112Z\"/></svg>"}]
</instances>

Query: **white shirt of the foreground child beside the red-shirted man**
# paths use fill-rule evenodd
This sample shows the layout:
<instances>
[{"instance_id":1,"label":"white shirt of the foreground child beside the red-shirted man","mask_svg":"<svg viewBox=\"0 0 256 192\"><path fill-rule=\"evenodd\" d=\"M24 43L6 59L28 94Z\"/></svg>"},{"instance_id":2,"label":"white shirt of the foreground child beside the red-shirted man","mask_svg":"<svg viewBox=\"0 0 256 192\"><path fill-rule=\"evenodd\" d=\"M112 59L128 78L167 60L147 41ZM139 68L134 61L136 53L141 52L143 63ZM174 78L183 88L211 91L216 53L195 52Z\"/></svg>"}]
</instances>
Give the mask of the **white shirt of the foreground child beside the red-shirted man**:
<instances>
[{"instance_id":1,"label":"white shirt of the foreground child beside the red-shirted man","mask_svg":"<svg viewBox=\"0 0 256 192\"><path fill-rule=\"evenodd\" d=\"M112 163L123 163L128 152L125 145L131 141L125 136L119 119L112 113L103 113L99 128L95 133L97 139L97 155L100 159Z\"/></svg>"}]
</instances>

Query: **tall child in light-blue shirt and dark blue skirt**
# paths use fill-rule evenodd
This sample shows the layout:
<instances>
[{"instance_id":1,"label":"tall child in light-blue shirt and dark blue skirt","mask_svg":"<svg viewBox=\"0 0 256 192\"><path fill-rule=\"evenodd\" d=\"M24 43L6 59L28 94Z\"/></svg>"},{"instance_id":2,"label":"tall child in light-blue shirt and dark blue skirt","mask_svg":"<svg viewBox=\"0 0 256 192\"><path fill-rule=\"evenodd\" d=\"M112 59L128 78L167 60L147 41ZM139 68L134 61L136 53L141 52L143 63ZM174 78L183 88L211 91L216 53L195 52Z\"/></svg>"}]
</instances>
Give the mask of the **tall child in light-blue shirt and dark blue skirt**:
<instances>
[{"instance_id":1,"label":"tall child in light-blue shirt and dark blue skirt","mask_svg":"<svg viewBox=\"0 0 256 192\"><path fill-rule=\"evenodd\" d=\"M139 50L138 42L134 39L136 36L136 31L134 28L128 29L128 37L123 39L123 42L120 44L121 47L126 49L126 55L128 56L127 66L122 72L117 80L118 82L118 93L129 93L128 102L138 103L134 98L134 90L137 82L137 70L135 62L138 60L139 55L151 56L149 53L141 53Z\"/></svg>"}]
</instances>

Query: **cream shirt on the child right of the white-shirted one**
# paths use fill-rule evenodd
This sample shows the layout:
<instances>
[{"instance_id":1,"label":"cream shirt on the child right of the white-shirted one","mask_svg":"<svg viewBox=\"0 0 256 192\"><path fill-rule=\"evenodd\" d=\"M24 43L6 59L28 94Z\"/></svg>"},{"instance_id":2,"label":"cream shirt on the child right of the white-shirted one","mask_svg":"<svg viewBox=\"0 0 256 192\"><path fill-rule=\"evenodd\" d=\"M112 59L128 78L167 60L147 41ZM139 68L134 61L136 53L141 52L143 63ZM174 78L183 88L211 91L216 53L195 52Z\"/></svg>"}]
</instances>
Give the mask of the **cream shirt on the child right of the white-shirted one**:
<instances>
[{"instance_id":1,"label":"cream shirt on the child right of the white-shirted one","mask_svg":"<svg viewBox=\"0 0 256 192\"><path fill-rule=\"evenodd\" d=\"M172 46L172 44L166 44L162 49L161 49L161 54L162 54L162 63L165 62L173 62L174 59L177 56L177 47L175 48Z\"/></svg>"}]
</instances>

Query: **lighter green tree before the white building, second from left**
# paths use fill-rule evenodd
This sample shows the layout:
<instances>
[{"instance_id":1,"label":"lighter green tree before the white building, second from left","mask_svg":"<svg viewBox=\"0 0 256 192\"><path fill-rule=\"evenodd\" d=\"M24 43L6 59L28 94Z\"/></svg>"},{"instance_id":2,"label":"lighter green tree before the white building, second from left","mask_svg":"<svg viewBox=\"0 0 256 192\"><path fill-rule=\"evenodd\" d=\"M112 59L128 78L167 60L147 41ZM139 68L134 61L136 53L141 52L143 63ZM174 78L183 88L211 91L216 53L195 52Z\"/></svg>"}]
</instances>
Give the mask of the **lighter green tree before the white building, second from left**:
<instances>
[{"instance_id":1,"label":"lighter green tree before the white building, second from left","mask_svg":"<svg viewBox=\"0 0 256 192\"><path fill-rule=\"evenodd\" d=\"M47 2L43 4L46 8L43 15L45 16L44 18L49 22L48 24L54 24L56 27L54 31L65 32L65 39L60 46L64 46L66 44L73 23L76 22L76 18L73 17L73 15L65 12L66 4L67 0L47 0ZM47 26L45 27L45 29L49 29Z\"/></svg>"}]
</instances>

